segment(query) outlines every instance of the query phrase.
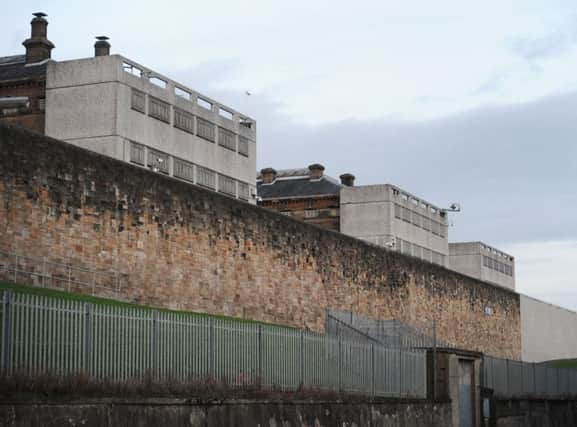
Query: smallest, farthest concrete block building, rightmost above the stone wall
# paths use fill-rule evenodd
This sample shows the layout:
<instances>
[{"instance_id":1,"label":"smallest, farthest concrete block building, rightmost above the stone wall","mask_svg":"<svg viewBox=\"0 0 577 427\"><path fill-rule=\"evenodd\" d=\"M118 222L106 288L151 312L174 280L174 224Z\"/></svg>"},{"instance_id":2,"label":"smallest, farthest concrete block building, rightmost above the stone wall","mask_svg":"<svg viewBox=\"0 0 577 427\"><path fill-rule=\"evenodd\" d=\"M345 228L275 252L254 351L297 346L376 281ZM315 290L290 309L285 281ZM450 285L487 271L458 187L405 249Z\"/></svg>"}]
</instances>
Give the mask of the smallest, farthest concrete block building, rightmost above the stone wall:
<instances>
[{"instance_id":1,"label":"smallest, farthest concrete block building, rightmost above the stone wall","mask_svg":"<svg viewBox=\"0 0 577 427\"><path fill-rule=\"evenodd\" d=\"M449 267L484 282L515 289L515 258L485 243L450 243Z\"/></svg>"}]
</instances>

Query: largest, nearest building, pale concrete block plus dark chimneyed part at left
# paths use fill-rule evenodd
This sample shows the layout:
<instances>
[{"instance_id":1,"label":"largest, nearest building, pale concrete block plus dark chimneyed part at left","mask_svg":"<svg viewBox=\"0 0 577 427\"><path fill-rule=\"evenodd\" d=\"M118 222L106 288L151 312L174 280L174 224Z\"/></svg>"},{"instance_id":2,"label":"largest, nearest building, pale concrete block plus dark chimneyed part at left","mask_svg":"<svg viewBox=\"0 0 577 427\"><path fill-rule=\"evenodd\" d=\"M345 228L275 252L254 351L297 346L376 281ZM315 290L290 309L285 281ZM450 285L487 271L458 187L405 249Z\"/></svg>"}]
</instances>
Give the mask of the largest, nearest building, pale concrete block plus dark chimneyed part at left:
<instances>
[{"instance_id":1,"label":"largest, nearest building, pale concrete block plus dark chimneyed part at left","mask_svg":"<svg viewBox=\"0 0 577 427\"><path fill-rule=\"evenodd\" d=\"M26 55L0 58L0 119L256 203L253 119L110 55L106 37L98 37L94 57L53 61L47 25L37 14ZM38 93L13 87L15 79L20 86L40 80Z\"/></svg>"}]
</instances>

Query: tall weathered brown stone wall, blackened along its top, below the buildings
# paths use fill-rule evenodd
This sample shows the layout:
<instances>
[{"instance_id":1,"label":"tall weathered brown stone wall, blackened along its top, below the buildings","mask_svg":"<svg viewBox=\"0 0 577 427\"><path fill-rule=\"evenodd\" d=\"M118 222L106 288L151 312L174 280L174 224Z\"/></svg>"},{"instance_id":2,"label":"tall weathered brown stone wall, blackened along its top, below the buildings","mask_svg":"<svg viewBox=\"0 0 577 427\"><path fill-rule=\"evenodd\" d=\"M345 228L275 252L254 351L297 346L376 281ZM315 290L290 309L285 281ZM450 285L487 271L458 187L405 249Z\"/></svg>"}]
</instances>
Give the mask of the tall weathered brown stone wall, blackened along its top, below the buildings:
<instances>
[{"instance_id":1,"label":"tall weathered brown stone wall, blackened along its top, below the buildings","mask_svg":"<svg viewBox=\"0 0 577 427\"><path fill-rule=\"evenodd\" d=\"M139 304L316 331L329 308L435 319L444 341L521 356L514 292L6 125L0 249L118 269Z\"/></svg>"}]
</instances>

